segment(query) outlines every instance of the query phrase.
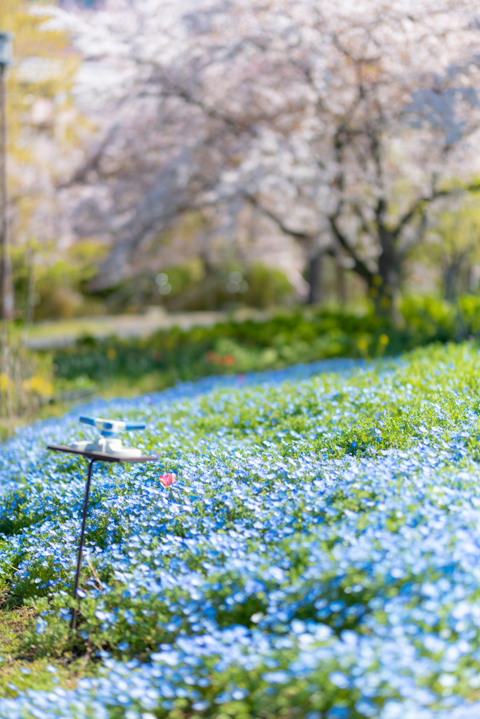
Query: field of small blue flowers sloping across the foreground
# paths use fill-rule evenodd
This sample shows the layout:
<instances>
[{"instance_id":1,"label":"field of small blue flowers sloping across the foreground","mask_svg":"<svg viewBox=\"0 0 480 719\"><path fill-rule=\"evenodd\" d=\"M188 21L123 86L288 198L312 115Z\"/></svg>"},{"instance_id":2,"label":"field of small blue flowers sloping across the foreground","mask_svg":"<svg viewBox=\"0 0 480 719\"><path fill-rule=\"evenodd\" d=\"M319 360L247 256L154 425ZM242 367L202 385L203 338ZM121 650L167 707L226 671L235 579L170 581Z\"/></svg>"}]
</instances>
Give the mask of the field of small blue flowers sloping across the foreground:
<instances>
[{"instance_id":1,"label":"field of small blue flowers sloping across the foreground","mask_svg":"<svg viewBox=\"0 0 480 719\"><path fill-rule=\"evenodd\" d=\"M0 717L480 718L479 377L478 347L429 347L17 431L0 614L23 602L32 621L0 661L19 677L0 679ZM81 413L146 418L130 441L161 462L95 465L72 633L85 462L45 445L86 436Z\"/></svg>"}]
</instances>

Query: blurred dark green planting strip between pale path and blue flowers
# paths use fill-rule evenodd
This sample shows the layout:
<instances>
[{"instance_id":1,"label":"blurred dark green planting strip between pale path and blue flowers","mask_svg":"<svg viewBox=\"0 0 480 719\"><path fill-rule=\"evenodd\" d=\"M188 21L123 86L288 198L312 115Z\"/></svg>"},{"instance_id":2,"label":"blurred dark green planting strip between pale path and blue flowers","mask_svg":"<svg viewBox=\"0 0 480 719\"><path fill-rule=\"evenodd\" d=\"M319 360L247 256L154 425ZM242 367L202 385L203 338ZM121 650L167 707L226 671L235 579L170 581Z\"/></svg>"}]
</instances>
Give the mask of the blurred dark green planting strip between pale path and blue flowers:
<instances>
[{"instance_id":1,"label":"blurred dark green planting strip between pale path and blue flowers","mask_svg":"<svg viewBox=\"0 0 480 719\"><path fill-rule=\"evenodd\" d=\"M285 309L265 322L227 322L190 331L159 331L148 339L86 337L55 352L56 377L83 376L101 385L150 377L148 389L211 374L276 369L331 357L380 357L431 342L480 336L480 298L458 306L431 298L406 298L404 326L373 311Z\"/></svg>"}]
</instances>

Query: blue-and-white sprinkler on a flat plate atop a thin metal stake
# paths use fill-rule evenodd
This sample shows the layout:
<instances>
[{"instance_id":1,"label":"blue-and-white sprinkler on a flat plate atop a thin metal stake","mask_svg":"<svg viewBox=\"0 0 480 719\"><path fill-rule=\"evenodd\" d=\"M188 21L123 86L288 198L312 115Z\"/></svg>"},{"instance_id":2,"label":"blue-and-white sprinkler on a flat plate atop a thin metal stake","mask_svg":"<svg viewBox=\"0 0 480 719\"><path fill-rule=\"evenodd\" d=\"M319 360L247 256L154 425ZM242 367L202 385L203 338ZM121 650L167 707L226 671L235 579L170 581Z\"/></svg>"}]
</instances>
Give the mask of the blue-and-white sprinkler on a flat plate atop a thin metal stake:
<instances>
[{"instance_id":1,"label":"blue-and-white sprinkler on a flat plate atop a thin metal stake","mask_svg":"<svg viewBox=\"0 0 480 719\"><path fill-rule=\"evenodd\" d=\"M54 452L65 452L66 454L81 454L87 457L89 462L89 471L87 474L85 499L83 500L83 514L81 522L80 545L78 546L77 570L75 575L75 584L73 587L73 600L80 601L78 597L78 584L80 582L81 559L83 554L83 539L85 537L86 514L89 508L89 493L91 483L91 470L94 462L126 462L135 464L136 462L158 462L159 457L154 454L142 454L140 449L133 447L124 447L122 442L117 439L118 432L125 429L145 429L145 424L119 422L116 420L104 420L101 418L91 419L81 417L80 421L91 426L97 426L101 429L101 436L94 442L74 442L73 444L49 444L47 449L53 449ZM108 439L106 439L108 438ZM75 629L78 610L75 606L72 608L71 628Z\"/></svg>"}]
</instances>

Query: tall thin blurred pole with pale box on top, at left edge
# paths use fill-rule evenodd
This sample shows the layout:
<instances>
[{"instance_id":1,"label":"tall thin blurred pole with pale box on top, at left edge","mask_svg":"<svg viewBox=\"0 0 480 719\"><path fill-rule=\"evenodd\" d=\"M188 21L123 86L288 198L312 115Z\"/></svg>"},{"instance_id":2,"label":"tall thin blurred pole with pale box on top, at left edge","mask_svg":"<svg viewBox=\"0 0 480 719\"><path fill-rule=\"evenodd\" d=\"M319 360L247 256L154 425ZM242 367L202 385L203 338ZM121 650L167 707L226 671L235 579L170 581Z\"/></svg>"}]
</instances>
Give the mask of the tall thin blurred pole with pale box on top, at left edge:
<instances>
[{"instance_id":1,"label":"tall thin blurred pole with pale box on top, at left edge","mask_svg":"<svg viewBox=\"0 0 480 719\"><path fill-rule=\"evenodd\" d=\"M13 319L14 316L8 193L6 186L6 68L12 65L12 39L13 36L10 32L0 32L0 288L1 319L4 322ZM4 332L2 332L2 334L4 334Z\"/></svg>"}]
</instances>

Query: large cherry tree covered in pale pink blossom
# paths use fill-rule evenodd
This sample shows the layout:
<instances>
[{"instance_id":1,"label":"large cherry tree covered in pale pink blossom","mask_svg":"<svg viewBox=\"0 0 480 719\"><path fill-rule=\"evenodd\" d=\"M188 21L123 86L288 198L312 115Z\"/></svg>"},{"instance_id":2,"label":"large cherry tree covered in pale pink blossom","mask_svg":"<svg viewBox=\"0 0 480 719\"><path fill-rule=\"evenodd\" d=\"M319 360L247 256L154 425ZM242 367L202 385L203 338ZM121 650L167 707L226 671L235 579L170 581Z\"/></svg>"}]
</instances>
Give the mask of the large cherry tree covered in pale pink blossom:
<instances>
[{"instance_id":1,"label":"large cherry tree covered in pale pink blossom","mask_svg":"<svg viewBox=\"0 0 480 719\"><path fill-rule=\"evenodd\" d=\"M312 290L341 252L391 313L430 208L480 188L471 1L106 0L56 22L94 68L71 185L117 237L104 283L182 209L248 203L302 244Z\"/></svg>"}]
</instances>

